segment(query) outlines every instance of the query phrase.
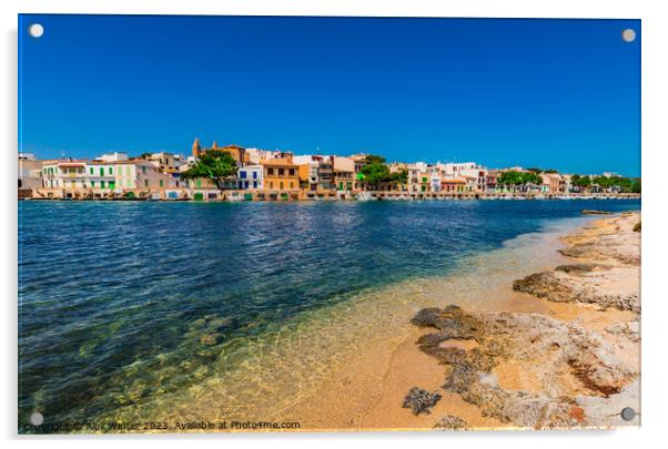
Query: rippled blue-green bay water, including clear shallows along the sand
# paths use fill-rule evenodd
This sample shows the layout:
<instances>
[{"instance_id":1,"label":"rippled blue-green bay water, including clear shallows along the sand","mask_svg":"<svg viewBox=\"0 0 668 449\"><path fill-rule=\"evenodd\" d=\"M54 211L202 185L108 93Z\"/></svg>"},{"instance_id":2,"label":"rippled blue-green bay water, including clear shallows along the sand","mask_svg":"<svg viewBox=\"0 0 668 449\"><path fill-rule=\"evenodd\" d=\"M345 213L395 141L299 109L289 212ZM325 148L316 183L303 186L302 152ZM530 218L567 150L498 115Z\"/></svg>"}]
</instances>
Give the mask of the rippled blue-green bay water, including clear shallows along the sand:
<instances>
[{"instance_id":1,"label":"rippled blue-green bay water, including clear shallows along the sand","mask_svg":"<svg viewBox=\"0 0 668 449\"><path fill-rule=\"evenodd\" d=\"M639 202L21 202L19 421L285 418L419 307L549 264L583 208Z\"/></svg>"}]
</instances>

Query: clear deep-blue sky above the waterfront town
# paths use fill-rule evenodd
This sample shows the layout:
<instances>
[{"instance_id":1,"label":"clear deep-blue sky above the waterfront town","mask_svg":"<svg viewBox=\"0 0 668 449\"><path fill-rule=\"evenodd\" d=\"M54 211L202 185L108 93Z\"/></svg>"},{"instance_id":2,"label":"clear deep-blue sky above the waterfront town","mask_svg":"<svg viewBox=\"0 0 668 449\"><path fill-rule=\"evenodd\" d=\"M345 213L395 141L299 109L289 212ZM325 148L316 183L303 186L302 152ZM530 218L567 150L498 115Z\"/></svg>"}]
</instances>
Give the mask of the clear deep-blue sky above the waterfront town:
<instances>
[{"instance_id":1,"label":"clear deep-blue sky above the waterfront town","mask_svg":"<svg viewBox=\"0 0 668 449\"><path fill-rule=\"evenodd\" d=\"M198 136L640 174L639 20L28 14L19 86L20 149L40 157Z\"/></svg>"}]
</instances>

